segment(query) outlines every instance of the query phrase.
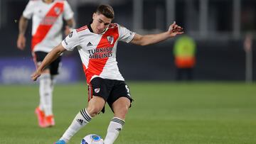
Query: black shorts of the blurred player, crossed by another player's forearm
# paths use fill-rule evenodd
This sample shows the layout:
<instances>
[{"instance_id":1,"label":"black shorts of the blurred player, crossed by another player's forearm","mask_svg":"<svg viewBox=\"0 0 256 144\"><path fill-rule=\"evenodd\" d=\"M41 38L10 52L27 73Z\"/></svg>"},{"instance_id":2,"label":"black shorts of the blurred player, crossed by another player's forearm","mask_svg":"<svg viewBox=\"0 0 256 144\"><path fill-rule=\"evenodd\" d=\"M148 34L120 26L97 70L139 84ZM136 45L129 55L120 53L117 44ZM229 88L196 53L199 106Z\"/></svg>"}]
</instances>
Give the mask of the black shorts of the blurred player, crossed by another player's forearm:
<instances>
[{"instance_id":1,"label":"black shorts of the blurred player, crossed by another player's forearm","mask_svg":"<svg viewBox=\"0 0 256 144\"><path fill-rule=\"evenodd\" d=\"M47 52L34 52L34 60L36 60L36 66L40 65L41 62L43 62L44 57L46 57L48 53ZM45 69L49 69L50 70L50 74L55 75L55 74L59 74L59 68L61 65L61 56L58 57L56 60L54 60L53 62L50 63L50 65L46 66Z\"/></svg>"}]
</instances>

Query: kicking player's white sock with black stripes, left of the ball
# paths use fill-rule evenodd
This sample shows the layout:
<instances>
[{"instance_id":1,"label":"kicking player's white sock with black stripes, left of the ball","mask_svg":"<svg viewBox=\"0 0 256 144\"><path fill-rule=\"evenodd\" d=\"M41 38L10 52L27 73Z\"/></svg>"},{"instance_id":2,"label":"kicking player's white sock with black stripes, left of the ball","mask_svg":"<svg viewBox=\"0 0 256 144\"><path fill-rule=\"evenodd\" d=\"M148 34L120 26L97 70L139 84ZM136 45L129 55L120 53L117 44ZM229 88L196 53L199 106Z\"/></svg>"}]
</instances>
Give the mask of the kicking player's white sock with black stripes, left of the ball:
<instances>
[{"instance_id":1,"label":"kicking player's white sock with black stripes, left of the ball","mask_svg":"<svg viewBox=\"0 0 256 144\"><path fill-rule=\"evenodd\" d=\"M74 118L71 125L68 127L67 131L63 134L60 140L64 140L66 143L70 140L70 138L77 133L80 128L84 127L87 123L90 122L92 116L87 113L86 109L82 109Z\"/></svg>"}]
</instances>

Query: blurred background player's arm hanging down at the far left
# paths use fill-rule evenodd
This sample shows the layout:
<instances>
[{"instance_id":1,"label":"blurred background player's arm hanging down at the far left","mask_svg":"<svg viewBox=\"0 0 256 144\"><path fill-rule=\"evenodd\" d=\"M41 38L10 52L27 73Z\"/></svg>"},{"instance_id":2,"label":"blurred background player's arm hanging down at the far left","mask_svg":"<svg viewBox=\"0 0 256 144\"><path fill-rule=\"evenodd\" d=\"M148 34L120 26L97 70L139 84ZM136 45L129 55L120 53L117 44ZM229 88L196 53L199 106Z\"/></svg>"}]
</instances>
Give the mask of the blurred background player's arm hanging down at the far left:
<instances>
[{"instance_id":1,"label":"blurred background player's arm hanging down at the far left","mask_svg":"<svg viewBox=\"0 0 256 144\"><path fill-rule=\"evenodd\" d=\"M17 48L20 50L24 50L26 45L25 33L28 28L28 19L24 16L21 16L18 22L18 40L17 40Z\"/></svg>"}]
</instances>

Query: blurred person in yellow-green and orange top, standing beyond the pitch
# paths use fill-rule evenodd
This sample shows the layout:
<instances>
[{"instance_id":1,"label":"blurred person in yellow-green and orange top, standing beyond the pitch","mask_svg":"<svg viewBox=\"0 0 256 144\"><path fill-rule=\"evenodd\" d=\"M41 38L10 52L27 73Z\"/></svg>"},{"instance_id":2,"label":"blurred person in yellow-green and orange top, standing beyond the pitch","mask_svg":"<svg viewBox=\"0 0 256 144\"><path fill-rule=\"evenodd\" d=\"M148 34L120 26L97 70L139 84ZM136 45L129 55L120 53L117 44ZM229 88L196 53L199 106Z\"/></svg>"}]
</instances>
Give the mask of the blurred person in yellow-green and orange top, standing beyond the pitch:
<instances>
[{"instance_id":1,"label":"blurred person in yellow-green and orange top, standing beyond the pitch","mask_svg":"<svg viewBox=\"0 0 256 144\"><path fill-rule=\"evenodd\" d=\"M196 65L196 42L188 35L182 35L174 43L174 62L176 80L193 79L193 68Z\"/></svg>"}]
</instances>

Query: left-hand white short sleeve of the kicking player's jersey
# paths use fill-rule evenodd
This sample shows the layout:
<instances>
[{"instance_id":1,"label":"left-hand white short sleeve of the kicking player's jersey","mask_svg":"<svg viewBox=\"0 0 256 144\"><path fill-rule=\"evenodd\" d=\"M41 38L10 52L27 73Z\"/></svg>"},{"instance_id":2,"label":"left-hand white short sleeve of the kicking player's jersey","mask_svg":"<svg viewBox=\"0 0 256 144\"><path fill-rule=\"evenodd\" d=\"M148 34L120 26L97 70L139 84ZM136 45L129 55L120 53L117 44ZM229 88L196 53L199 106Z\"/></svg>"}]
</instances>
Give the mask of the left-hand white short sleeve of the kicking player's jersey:
<instances>
[{"instance_id":1,"label":"left-hand white short sleeve of the kicking player's jersey","mask_svg":"<svg viewBox=\"0 0 256 144\"><path fill-rule=\"evenodd\" d=\"M70 34L61 42L61 45L63 45L63 47L68 51L74 50L74 48L79 44L78 33L75 29L71 31Z\"/></svg>"}]
</instances>

